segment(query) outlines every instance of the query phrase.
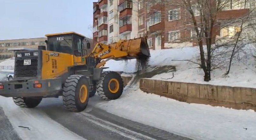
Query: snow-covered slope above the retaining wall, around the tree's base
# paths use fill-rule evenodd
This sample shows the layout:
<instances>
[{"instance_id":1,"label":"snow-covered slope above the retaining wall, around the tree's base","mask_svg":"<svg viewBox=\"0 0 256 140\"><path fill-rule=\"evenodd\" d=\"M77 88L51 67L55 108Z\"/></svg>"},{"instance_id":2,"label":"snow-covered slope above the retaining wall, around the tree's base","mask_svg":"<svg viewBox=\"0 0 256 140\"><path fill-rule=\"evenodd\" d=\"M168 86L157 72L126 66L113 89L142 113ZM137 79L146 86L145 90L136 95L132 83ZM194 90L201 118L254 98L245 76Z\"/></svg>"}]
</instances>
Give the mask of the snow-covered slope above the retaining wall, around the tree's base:
<instances>
[{"instance_id":1,"label":"snow-covered slope above the retaining wall, around the tree's base","mask_svg":"<svg viewBox=\"0 0 256 140\"><path fill-rule=\"evenodd\" d=\"M231 66L230 74L224 76L226 69L216 69L211 73L211 81L203 81L204 72L202 69L189 61L172 61L172 60L195 60L199 56L198 47L184 47L165 50L150 50L151 58L149 60L150 66L165 66L171 65L176 67L174 77L169 81L181 81L192 83L207 83L212 85L225 85L225 86L243 86L256 88L256 63L253 57L242 56L241 61L234 62ZM136 60L114 61L107 62L106 70L123 71L125 73L132 73L137 71L135 69ZM152 79L163 80L172 77L172 72L157 74Z\"/></svg>"}]
</instances>

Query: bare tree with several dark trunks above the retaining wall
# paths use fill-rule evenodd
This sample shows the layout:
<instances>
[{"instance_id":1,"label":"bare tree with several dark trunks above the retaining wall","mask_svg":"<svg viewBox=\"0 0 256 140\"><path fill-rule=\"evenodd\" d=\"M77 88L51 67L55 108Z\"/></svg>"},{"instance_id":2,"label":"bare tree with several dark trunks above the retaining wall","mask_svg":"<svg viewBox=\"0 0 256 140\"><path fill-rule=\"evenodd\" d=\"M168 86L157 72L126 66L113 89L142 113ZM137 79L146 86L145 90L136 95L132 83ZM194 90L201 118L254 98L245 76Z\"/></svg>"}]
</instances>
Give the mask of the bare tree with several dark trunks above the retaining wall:
<instances>
[{"instance_id":1,"label":"bare tree with several dark trunks above the retaining wall","mask_svg":"<svg viewBox=\"0 0 256 140\"><path fill-rule=\"evenodd\" d=\"M152 3L161 5L162 7L171 7L179 9L175 11L176 15L182 18L182 22L185 24L183 29L179 32L195 32L194 36L186 36L183 41L193 39L199 46L200 50L200 64L199 67L204 71L204 81L211 80L211 72L215 69L224 69L226 64L228 65L227 74L230 71L230 66L232 60L234 60L235 54L238 50L245 46L245 38L242 31L248 28L254 28L254 23L251 21L255 20L256 14L254 9L254 3L249 2L250 0L146 0L145 3ZM250 11L243 11L244 13L235 16L224 15L224 10L232 9L246 9L247 5L251 6ZM151 9L155 11L161 11L161 18L168 17L168 15L175 16L174 13L169 13L166 8L163 9ZM230 13L232 14L232 13ZM227 18L232 17L232 18ZM215 45L216 40L223 42L223 37L216 39L216 32L220 32L231 25L236 25L239 27L239 32L236 35L226 39L225 43L222 45ZM175 36L175 33L172 34ZM169 38L172 37L168 34ZM225 38L224 38L225 39ZM222 40L222 41L220 41ZM249 39L250 40L250 39ZM247 43L249 43L247 41ZM226 47L226 48L225 48ZM230 49L231 48L231 49ZM227 52L231 52L227 55ZM194 62L198 64L197 62Z\"/></svg>"}]
</instances>

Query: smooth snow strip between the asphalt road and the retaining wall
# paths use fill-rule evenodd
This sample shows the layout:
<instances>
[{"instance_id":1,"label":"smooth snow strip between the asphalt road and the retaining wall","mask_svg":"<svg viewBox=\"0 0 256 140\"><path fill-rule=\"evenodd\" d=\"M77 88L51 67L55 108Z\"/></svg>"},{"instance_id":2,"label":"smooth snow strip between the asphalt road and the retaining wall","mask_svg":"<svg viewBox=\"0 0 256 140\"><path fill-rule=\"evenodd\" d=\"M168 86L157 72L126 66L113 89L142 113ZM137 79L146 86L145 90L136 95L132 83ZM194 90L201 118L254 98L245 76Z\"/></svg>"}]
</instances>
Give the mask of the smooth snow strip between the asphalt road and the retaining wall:
<instances>
[{"instance_id":1,"label":"smooth snow strip between the asphalt road and the retaining wall","mask_svg":"<svg viewBox=\"0 0 256 140\"><path fill-rule=\"evenodd\" d=\"M188 104L129 87L117 100L104 101L96 95L89 104L192 139L256 139L256 113L252 110Z\"/></svg>"}]
</instances>

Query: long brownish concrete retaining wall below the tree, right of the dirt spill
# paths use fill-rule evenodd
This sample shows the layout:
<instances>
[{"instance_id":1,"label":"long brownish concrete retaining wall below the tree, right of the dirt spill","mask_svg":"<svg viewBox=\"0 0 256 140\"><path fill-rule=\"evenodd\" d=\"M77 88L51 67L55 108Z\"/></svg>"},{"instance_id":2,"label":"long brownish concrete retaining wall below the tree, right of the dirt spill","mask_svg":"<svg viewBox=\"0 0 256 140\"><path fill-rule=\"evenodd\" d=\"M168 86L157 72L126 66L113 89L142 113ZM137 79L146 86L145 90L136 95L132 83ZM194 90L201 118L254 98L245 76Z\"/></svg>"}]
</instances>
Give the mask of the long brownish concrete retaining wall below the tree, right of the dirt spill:
<instances>
[{"instance_id":1,"label":"long brownish concrete retaining wall below the tree, right of the dirt spill","mask_svg":"<svg viewBox=\"0 0 256 140\"><path fill-rule=\"evenodd\" d=\"M256 89L141 79L140 89L187 103L256 111Z\"/></svg>"}]
</instances>

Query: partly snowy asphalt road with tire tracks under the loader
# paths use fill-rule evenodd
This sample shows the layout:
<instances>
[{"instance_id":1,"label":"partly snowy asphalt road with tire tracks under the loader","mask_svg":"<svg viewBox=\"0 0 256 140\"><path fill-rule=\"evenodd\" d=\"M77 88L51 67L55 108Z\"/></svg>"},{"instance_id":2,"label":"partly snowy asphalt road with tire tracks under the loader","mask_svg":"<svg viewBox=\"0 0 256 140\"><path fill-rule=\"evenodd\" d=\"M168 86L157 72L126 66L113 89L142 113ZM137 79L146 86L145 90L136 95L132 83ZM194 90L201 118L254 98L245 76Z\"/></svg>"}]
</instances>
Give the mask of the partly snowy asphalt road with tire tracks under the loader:
<instances>
[{"instance_id":1,"label":"partly snowy asphalt road with tire tracks under the loader","mask_svg":"<svg viewBox=\"0 0 256 140\"><path fill-rule=\"evenodd\" d=\"M69 112L61 97L43 99L36 108L20 108L11 98L0 97L0 107L0 139L4 140L188 140L90 104L83 112Z\"/></svg>"}]
</instances>

